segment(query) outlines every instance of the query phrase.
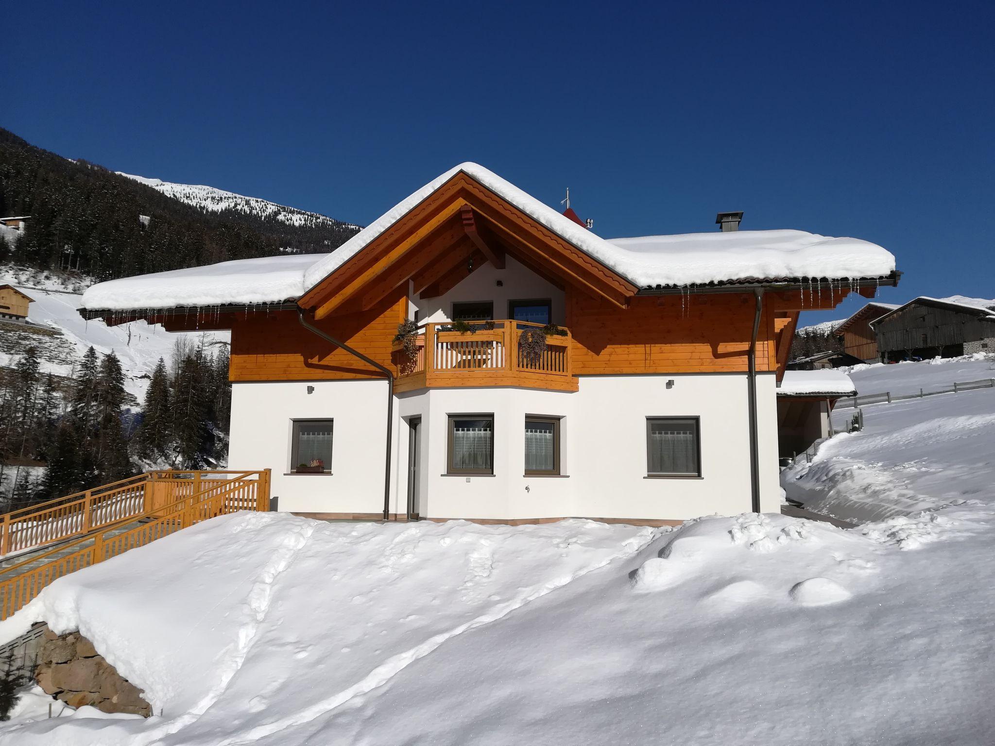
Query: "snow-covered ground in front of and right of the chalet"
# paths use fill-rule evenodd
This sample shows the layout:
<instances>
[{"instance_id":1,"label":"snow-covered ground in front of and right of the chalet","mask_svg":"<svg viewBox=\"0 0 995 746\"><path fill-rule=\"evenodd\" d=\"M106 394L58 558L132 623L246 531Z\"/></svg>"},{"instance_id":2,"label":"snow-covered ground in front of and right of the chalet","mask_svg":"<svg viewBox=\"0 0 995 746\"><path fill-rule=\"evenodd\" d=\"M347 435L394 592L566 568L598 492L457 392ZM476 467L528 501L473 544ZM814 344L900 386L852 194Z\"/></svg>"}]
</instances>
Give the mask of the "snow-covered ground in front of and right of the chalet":
<instances>
[{"instance_id":1,"label":"snow-covered ground in front of and right of the chalet","mask_svg":"<svg viewBox=\"0 0 995 746\"><path fill-rule=\"evenodd\" d=\"M946 367L914 365L883 367ZM0 640L79 629L156 715L48 720L36 692L0 744L995 743L995 389L866 424L785 472L836 490L841 517L883 518L849 530L749 513L186 529L0 623Z\"/></svg>"}]
</instances>

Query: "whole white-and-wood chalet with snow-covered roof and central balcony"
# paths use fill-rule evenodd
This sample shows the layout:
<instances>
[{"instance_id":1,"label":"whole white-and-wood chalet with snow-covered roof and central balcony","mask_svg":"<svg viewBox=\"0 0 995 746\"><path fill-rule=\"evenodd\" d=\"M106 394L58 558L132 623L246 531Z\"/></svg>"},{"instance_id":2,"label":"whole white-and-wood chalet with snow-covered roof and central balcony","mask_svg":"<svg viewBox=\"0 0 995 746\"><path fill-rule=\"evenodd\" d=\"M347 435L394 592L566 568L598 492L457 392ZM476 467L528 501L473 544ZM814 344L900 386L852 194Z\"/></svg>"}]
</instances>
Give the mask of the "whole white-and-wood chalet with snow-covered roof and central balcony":
<instances>
[{"instance_id":1,"label":"whole white-and-wood chalet with snow-covered roof and central balcony","mask_svg":"<svg viewBox=\"0 0 995 746\"><path fill-rule=\"evenodd\" d=\"M801 310L895 284L802 231L605 240L464 163L331 254L102 282L109 324L231 329L233 468L326 518L665 524L779 509Z\"/></svg>"}]
</instances>

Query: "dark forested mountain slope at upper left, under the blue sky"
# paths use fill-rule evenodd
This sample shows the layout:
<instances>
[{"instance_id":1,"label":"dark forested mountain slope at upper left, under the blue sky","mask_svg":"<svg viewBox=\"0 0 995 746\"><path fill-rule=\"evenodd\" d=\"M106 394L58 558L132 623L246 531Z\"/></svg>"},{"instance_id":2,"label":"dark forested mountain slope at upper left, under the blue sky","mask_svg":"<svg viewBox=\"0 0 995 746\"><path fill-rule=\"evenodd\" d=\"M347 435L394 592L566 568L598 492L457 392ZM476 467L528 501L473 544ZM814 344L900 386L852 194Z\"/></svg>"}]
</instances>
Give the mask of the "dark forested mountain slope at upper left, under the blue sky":
<instances>
[{"instance_id":1,"label":"dark forested mountain slope at upper left, under the blue sky","mask_svg":"<svg viewBox=\"0 0 995 746\"><path fill-rule=\"evenodd\" d=\"M73 269L96 280L330 252L358 230L330 219L296 226L234 210L207 212L0 128L0 217L21 215L31 216L28 230L13 246L0 241L0 262Z\"/></svg>"}]
</instances>

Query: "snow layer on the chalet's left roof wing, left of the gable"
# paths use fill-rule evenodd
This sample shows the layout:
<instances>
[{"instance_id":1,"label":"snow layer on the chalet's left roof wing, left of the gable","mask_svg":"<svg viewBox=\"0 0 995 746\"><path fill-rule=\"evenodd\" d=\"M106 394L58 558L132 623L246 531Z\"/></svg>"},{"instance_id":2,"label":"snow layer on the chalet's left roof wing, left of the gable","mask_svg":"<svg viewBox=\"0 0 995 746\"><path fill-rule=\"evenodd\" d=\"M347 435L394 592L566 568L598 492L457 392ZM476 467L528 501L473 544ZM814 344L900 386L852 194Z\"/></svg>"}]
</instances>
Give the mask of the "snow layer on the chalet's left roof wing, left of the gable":
<instances>
[{"instance_id":1,"label":"snow layer on the chalet's left roof wing, left of the gable","mask_svg":"<svg viewBox=\"0 0 995 746\"><path fill-rule=\"evenodd\" d=\"M306 268L323 254L240 259L206 267L108 280L87 288L83 307L174 308L226 303L278 303L303 294Z\"/></svg>"}]
</instances>

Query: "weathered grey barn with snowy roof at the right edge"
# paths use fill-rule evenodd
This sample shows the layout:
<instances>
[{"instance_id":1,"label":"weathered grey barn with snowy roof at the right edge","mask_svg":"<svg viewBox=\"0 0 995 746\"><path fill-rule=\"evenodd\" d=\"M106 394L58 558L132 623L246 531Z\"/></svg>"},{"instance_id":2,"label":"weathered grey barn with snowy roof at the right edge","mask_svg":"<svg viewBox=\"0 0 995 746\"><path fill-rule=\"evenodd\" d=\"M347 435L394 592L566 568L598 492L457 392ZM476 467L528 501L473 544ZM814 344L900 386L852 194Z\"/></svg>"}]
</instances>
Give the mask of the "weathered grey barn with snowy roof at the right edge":
<instances>
[{"instance_id":1,"label":"weathered grey barn with snowy roof at the right edge","mask_svg":"<svg viewBox=\"0 0 995 746\"><path fill-rule=\"evenodd\" d=\"M870 325L882 362L995 352L995 309L959 299L923 295Z\"/></svg>"}]
</instances>

